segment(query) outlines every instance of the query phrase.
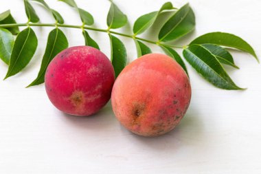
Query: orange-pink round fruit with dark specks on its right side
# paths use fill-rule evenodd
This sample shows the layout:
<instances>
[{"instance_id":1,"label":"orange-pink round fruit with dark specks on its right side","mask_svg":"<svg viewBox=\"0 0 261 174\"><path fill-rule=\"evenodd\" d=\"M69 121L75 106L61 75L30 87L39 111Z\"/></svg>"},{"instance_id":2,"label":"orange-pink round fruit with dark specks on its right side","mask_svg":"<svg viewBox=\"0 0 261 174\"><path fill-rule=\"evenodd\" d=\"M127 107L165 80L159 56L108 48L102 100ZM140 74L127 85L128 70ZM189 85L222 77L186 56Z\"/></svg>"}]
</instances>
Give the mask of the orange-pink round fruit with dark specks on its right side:
<instances>
[{"instance_id":1,"label":"orange-pink round fruit with dark specks on its right side","mask_svg":"<svg viewBox=\"0 0 261 174\"><path fill-rule=\"evenodd\" d=\"M167 133L190 105L190 80L164 54L146 54L126 66L115 80L111 102L126 129L143 136Z\"/></svg>"}]
</instances>

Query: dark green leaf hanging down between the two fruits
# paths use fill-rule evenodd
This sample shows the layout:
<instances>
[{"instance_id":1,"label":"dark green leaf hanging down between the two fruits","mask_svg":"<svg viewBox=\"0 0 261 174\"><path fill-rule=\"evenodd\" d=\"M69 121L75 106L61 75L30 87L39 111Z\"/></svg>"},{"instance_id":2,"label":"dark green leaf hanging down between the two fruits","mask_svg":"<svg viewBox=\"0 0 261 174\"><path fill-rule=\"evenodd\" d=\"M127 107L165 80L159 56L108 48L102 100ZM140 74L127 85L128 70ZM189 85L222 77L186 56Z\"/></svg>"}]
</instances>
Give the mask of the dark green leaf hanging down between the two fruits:
<instances>
[{"instance_id":1,"label":"dark green leaf hanging down between the two fruits","mask_svg":"<svg viewBox=\"0 0 261 174\"><path fill-rule=\"evenodd\" d=\"M122 69L126 66L127 53L126 48L120 39L109 34L111 41L111 62L113 64L115 77L119 76Z\"/></svg>"}]
</instances>

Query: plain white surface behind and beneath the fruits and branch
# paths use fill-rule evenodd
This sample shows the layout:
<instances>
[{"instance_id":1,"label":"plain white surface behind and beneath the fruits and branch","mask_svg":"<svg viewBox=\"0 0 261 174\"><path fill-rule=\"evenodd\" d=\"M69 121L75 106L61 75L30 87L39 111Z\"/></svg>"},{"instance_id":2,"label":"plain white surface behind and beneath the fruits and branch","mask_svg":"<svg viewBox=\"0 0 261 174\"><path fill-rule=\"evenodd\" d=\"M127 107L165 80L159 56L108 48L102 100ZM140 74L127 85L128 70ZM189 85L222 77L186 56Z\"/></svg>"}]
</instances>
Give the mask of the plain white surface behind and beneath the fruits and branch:
<instances>
[{"instance_id":1,"label":"plain white surface behind and beneath the fruits and branch","mask_svg":"<svg viewBox=\"0 0 261 174\"><path fill-rule=\"evenodd\" d=\"M109 1L78 0L95 18L95 27L106 28ZM115 0L128 15L131 27L141 14L155 11L164 0ZM207 32L231 32L248 41L261 56L260 0L190 0L196 30L176 45L189 43ZM78 14L62 2L47 0L65 23L80 25ZM185 1L172 1L181 7ZM52 16L33 4L42 23ZM19 23L27 21L23 1L0 1L0 12L10 9ZM22 29L22 28L21 28ZM41 65L47 34L52 28L34 28L38 50L23 72L0 80L0 173L261 173L261 67L256 60L232 51L240 70L227 71L245 91L225 91L209 85L188 65L192 102L174 131L158 138L143 138L126 131L113 116L111 103L95 116L67 116L49 102L43 85L30 87ZM69 45L82 45L81 31L63 29ZM151 36L153 31L149 32ZM101 50L110 55L104 33L90 32ZM148 34L145 34L146 37ZM122 38L128 61L136 57L131 39ZM154 52L161 52L149 45ZM181 50L179 50L181 53ZM0 79L8 67L0 63Z\"/></svg>"}]
</instances>

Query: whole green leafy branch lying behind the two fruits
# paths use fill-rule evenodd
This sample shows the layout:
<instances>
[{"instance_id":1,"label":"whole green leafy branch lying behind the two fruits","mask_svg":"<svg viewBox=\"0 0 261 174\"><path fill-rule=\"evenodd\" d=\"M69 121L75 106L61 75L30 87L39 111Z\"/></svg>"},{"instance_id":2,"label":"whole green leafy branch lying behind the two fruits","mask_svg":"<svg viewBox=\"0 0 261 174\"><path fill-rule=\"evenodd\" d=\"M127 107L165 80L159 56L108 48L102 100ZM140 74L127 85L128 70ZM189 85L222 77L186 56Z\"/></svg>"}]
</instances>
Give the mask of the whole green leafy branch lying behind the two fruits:
<instances>
[{"instance_id":1,"label":"whole green leafy branch lying behind the two fruits","mask_svg":"<svg viewBox=\"0 0 261 174\"><path fill-rule=\"evenodd\" d=\"M30 1L41 3L50 13L52 13L56 22L39 23L40 19ZM109 39L111 41L111 62L115 69L115 76L118 76L122 69L124 69L127 58L124 43L115 35L133 39L137 48L138 57L152 52L145 42L159 45L159 47L161 47L166 54L174 58L188 74L183 58L181 58L173 48L183 49L185 60L196 69L196 72L201 74L209 83L212 83L221 89L242 89L231 80L223 67L223 64L225 64L238 69L238 66L234 63L233 56L226 50L227 47L247 52L259 61L251 45L234 34L223 32L204 34L184 47L168 44L168 41L177 40L192 32L195 28L194 12L188 3L179 9L174 8L170 2L164 3L158 11L150 12L139 17L134 23L133 34L124 34L112 30L122 28L128 22L126 14L124 14L113 1L111 1L111 7L107 15L107 29L90 27L89 25L93 25L94 23L93 16L86 10L78 8L74 0L60 1L67 3L78 12L82 25L64 24L63 17L56 10L50 8L44 0L24 0L25 13L28 18L27 23L16 23L10 10L0 14L0 58L9 65L5 78L21 72L34 56L38 40L32 27L54 27L54 30L49 33L38 76L28 87L44 83L44 75L49 63L56 54L69 46L65 34L59 28L78 28L82 30L85 45L97 49L100 49L98 43L91 38L87 31L93 30L109 34ZM165 21L163 26L161 26L161 30L158 34L158 41L150 41L137 36L152 27L152 25L156 23L159 14L166 15L164 13L165 11L173 13L171 17ZM22 26L27 26L27 28L20 32L19 27ZM18 35L14 40L13 35L16 34Z\"/></svg>"}]
</instances>

